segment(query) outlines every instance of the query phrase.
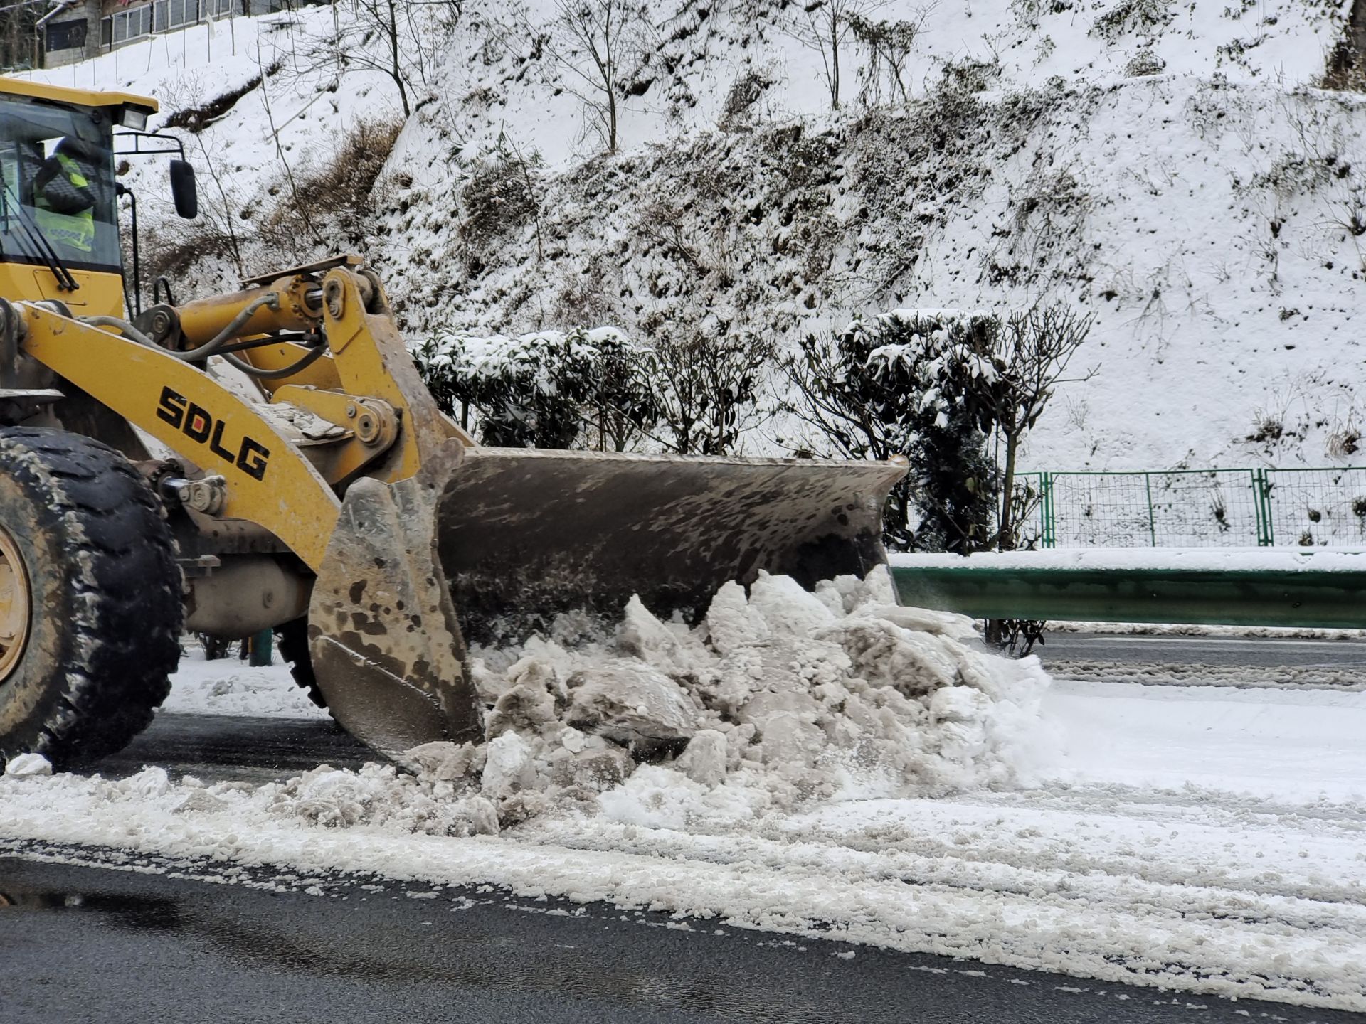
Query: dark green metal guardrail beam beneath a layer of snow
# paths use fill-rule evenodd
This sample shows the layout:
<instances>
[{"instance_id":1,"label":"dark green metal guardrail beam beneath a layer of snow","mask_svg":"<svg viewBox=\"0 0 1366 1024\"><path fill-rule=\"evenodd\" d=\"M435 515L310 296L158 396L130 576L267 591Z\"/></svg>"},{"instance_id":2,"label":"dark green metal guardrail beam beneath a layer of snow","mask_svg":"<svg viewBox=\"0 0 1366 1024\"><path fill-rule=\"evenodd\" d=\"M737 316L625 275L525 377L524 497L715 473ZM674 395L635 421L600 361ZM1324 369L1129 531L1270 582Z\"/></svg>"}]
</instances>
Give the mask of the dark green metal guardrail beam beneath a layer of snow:
<instances>
[{"instance_id":1,"label":"dark green metal guardrail beam beneath a layer of snow","mask_svg":"<svg viewBox=\"0 0 1366 1024\"><path fill-rule=\"evenodd\" d=\"M974 618L1366 629L1366 572L895 565L903 605Z\"/></svg>"}]
</instances>

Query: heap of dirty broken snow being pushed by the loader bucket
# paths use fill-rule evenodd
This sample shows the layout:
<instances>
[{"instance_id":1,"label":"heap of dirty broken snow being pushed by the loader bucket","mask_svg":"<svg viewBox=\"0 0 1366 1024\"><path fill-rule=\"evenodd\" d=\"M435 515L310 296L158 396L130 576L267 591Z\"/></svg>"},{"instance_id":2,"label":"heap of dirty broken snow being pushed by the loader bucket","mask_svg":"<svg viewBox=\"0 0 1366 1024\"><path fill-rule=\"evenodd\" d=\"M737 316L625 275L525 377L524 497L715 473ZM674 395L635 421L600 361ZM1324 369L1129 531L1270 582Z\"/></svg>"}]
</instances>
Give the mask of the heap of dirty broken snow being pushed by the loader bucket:
<instances>
[{"instance_id":1,"label":"heap of dirty broken snow being pushed by the loader bucket","mask_svg":"<svg viewBox=\"0 0 1366 1024\"><path fill-rule=\"evenodd\" d=\"M680 827L1012 784L1046 676L973 636L960 616L897 608L881 571L814 594L728 583L691 629L632 599L608 640L485 651L482 744L414 748L414 777L320 769L280 796L325 825L430 801L418 827L464 833L552 808Z\"/></svg>"}]
</instances>

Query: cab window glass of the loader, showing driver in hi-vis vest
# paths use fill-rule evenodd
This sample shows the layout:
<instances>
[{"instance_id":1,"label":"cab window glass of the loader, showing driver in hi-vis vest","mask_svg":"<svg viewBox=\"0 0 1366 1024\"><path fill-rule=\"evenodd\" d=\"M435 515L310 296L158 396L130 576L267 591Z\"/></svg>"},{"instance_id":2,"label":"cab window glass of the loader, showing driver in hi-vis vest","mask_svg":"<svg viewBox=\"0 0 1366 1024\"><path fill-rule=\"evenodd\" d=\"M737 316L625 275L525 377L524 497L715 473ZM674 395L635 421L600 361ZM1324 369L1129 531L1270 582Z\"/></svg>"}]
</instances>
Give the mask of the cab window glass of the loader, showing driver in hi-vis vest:
<instances>
[{"instance_id":1,"label":"cab window glass of the loader, showing driver in hi-vis vest","mask_svg":"<svg viewBox=\"0 0 1366 1024\"><path fill-rule=\"evenodd\" d=\"M104 111L0 97L0 259L122 269Z\"/></svg>"}]
</instances>

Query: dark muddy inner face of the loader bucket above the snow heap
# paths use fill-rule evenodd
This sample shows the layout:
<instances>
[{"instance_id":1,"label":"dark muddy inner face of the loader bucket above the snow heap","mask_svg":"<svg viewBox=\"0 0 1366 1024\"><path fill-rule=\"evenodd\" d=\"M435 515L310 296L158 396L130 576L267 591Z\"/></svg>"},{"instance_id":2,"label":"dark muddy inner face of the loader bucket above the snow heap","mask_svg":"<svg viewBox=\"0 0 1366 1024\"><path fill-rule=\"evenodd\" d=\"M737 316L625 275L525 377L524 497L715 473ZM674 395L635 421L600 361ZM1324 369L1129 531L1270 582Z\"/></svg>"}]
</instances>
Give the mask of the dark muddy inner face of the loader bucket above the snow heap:
<instances>
[{"instance_id":1,"label":"dark muddy inner face of the loader bucket above the snow heap","mask_svg":"<svg viewBox=\"0 0 1366 1024\"><path fill-rule=\"evenodd\" d=\"M441 568L467 640L520 639L632 594L694 621L759 569L806 587L887 561L888 463L469 449L437 501Z\"/></svg>"}]
</instances>

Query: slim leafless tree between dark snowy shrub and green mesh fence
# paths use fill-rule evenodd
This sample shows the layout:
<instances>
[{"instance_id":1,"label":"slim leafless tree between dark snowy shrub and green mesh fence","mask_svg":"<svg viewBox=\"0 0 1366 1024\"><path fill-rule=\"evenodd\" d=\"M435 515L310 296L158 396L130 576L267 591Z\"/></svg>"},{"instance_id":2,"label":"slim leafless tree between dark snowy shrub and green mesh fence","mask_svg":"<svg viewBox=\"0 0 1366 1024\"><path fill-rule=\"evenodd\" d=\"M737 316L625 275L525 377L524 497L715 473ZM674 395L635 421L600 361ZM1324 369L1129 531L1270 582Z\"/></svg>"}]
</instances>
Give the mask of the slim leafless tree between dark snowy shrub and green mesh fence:
<instances>
[{"instance_id":1,"label":"slim leafless tree between dark snowy shrub and green mesh fence","mask_svg":"<svg viewBox=\"0 0 1366 1024\"><path fill-rule=\"evenodd\" d=\"M1091 315L1082 315L1064 302L1053 302L1011 314L1001 325L993 359L997 374L986 384L986 395L982 397L996 423L997 436L1005 445L996 543L1000 550L1015 547L1019 512L1015 467L1020 441L1044 414L1057 385L1089 381L1097 373L1091 367L1074 377L1064 375L1093 322Z\"/></svg>"}]
</instances>

